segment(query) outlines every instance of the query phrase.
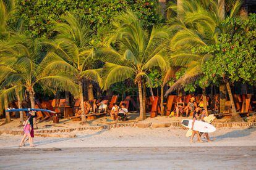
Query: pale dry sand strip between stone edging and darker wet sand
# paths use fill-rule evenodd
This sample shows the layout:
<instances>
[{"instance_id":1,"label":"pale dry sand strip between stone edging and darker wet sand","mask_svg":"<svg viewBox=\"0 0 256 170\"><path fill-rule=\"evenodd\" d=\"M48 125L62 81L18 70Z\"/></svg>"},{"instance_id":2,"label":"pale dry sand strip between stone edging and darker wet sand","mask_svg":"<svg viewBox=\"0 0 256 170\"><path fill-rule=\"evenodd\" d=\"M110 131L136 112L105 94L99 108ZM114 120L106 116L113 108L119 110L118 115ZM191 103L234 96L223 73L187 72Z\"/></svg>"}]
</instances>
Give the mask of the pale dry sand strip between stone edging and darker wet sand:
<instances>
[{"instance_id":1,"label":"pale dry sand strip between stone edging and darker wet sand","mask_svg":"<svg viewBox=\"0 0 256 170\"><path fill-rule=\"evenodd\" d=\"M221 128L210 134L213 142L190 144L186 130L165 128L120 127L98 131L73 131L75 138L35 137L38 148L49 147L186 147L186 146L256 146L256 128ZM0 148L17 148L21 136L0 136ZM194 139L196 140L196 139Z\"/></svg>"}]
</instances>

